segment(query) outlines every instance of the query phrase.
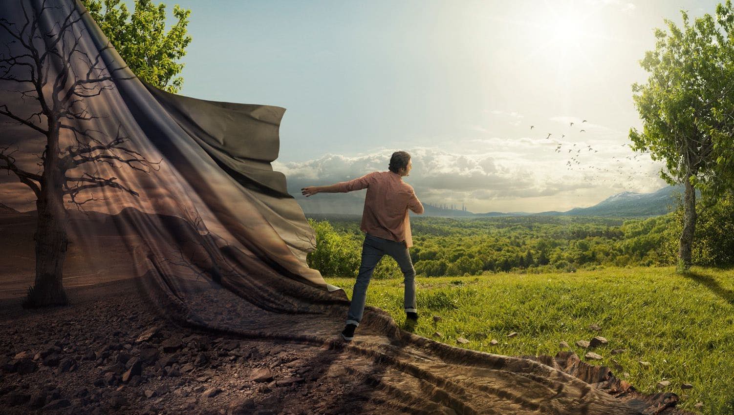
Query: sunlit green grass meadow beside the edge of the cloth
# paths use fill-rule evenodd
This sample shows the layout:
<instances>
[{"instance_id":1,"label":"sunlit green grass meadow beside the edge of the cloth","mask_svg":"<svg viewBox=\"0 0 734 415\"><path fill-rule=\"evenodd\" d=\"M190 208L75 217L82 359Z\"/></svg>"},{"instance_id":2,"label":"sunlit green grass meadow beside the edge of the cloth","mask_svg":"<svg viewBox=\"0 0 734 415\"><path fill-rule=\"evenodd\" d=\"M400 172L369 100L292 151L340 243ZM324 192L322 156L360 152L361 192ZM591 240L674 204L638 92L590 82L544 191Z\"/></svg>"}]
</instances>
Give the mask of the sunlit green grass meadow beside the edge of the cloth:
<instances>
[{"instance_id":1,"label":"sunlit green grass meadow beside the edge of the cloth","mask_svg":"<svg viewBox=\"0 0 734 415\"><path fill-rule=\"evenodd\" d=\"M351 298L354 277L327 278ZM576 273L418 278L415 333L463 348L509 356L555 355L565 341L597 335L603 364L644 393L668 380L679 408L734 414L734 268L697 268L686 275L666 268L606 268ZM403 323L401 279L373 279L367 304ZM432 316L442 317L434 325ZM596 323L602 330L591 331ZM517 331L519 335L508 338ZM470 342L459 345L457 337ZM490 345L497 339L498 345ZM612 349L625 349L611 355ZM614 370L616 360L622 370ZM650 362L643 367L639 361ZM627 373L625 378L623 373ZM694 388L682 390L681 383ZM697 402L703 407L694 408Z\"/></svg>"}]
</instances>

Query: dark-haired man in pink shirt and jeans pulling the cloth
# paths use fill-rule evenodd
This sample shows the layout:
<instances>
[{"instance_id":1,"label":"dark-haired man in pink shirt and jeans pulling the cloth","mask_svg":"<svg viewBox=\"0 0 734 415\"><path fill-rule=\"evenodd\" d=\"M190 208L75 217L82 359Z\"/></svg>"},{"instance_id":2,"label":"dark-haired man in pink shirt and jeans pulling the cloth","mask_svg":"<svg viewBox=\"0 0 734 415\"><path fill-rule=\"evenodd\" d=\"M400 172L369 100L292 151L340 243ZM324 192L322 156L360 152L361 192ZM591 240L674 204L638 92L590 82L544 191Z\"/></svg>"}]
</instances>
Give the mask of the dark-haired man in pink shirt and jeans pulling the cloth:
<instances>
[{"instance_id":1,"label":"dark-haired man in pink shirt and jeans pulling the cloth","mask_svg":"<svg viewBox=\"0 0 734 415\"><path fill-rule=\"evenodd\" d=\"M393 257L403 272L407 318L413 323L418 321L418 312L415 309L415 268L408 253L408 248L413 246L408 209L421 214L424 208L418 197L415 197L413 186L403 181L403 177L410 175L410 169L413 169L410 154L404 151L393 153L388 169L388 172L371 172L348 182L301 189L302 194L309 197L320 192L345 193L367 188L360 225L360 229L366 234L362 244L362 264L352 292L352 304L346 315L346 327L341 332L341 337L346 341L354 338L355 328L359 326L365 309L367 286L372 271L385 254Z\"/></svg>"}]
</instances>

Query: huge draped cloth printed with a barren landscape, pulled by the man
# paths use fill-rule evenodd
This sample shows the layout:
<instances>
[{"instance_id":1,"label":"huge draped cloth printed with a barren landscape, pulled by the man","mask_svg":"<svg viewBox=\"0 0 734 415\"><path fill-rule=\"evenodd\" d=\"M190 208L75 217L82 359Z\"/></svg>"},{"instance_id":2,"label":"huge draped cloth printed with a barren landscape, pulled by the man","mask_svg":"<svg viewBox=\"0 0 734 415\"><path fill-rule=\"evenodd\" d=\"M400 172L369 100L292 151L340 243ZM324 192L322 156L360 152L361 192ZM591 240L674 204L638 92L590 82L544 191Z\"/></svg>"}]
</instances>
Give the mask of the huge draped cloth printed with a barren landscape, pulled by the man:
<instances>
[{"instance_id":1,"label":"huge draped cloth printed with a barren landscape, pulled by the man","mask_svg":"<svg viewBox=\"0 0 734 415\"><path fill-rule=\"evenodd\" d=\"M316 248L313 229L287 193L286 177L271 165L285 109L161 91L126 68L78 1L47 1L46 7L40 0L21 3L29 14L40 15L39 27L48 33L72 22L68 42L49 45L49 38L41 38L34 43L61 55L74 48L67 84L84 78L90 62L111 77L101 93L76 104L95 117L62 122L76 131L95 131L101 142L124 136L129 149L158 163L155 169L120 163L76 166L76 176L115 177L134 194L115 186L92 189L82 211L68 208L68 230L96 270L110 265L109 256L95 254L100 246L119 243L142 295L167 317L233 337L343 348L368 367L376 388L413 411L641 414L674 400L636 394L606 367L589 366L570 353L499 356L435 342L401 330L372 307L355 341L339 341L349 301L308 267L306 255ZM22 26L20 6L4 5L2 12ZM1 40L9 53L20 51L6 33ZM60 71L53 65L48 70L51 79ZM44 90L50 94L51 88ZM32 99L17 88L9 91L0 95L3 103L34 111ZM43 148L45 137L30 128L6 131L21 150ZM9 135L2 144L10 142ZM61 148L78 139L62 129Z\"/></svg>"}]
</instances>

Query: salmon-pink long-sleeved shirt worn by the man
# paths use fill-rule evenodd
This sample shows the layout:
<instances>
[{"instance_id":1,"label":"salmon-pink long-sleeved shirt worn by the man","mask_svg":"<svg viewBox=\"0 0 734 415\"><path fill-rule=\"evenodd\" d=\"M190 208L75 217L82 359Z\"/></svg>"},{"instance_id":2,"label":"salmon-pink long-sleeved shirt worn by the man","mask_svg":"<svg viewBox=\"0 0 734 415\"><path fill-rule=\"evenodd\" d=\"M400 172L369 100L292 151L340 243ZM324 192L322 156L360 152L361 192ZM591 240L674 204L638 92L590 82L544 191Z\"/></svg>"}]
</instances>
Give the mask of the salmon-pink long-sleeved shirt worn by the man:
<instances>
[{"instance_id":1,"label":"salmon-pink long-sleeved shirt worn by the man","mask_svg":"<svg viewBox=\"0 0 734 415\"><path fill-rule=\"evenodd\" d=\"M415 197L413 186L405 183L401 175L390 172L371 172L348 182L336 183L338 193L367 188L365 208L360 229L372 236L405 241L413 246L408 209L423 213L423 204Z\"/></svg>"}]
</instances>

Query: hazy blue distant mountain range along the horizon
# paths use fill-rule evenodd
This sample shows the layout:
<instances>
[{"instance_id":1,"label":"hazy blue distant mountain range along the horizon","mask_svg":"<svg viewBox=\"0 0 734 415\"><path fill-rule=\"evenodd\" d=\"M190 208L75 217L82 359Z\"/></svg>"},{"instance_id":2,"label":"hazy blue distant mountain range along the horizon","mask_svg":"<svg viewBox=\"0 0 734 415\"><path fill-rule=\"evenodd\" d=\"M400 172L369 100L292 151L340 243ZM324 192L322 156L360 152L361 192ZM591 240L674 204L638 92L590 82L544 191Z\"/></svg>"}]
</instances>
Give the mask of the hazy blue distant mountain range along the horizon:
<instances>
[{"instance_id":1,"label":"hazy blue distant mountain range along the horizon","mask_svg":"<svg viewBox=\"0 0 734 415\"><path fill-rule=\"evenodd\" d=\"M573 208L565 212L548 211L541 213L527 212L487 212L473 213L466 210L442 209L424 204L424 216L440 216L448 218L484 218L498 216L603 216L603 217L641 217L660 216L668 213L675 204L673 195L683 194L683 186L667 186L652 193L633 193L624 191L604 199L589 208ZM319 194L317 197L296 197L296 201L307 215L361 215L364 208L364 193L352 194ZM700 193L697 193L700 195Z\"/></svg>"}]
</instances>

